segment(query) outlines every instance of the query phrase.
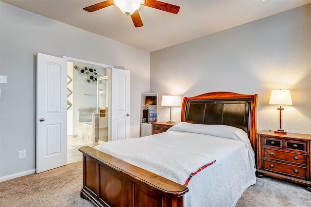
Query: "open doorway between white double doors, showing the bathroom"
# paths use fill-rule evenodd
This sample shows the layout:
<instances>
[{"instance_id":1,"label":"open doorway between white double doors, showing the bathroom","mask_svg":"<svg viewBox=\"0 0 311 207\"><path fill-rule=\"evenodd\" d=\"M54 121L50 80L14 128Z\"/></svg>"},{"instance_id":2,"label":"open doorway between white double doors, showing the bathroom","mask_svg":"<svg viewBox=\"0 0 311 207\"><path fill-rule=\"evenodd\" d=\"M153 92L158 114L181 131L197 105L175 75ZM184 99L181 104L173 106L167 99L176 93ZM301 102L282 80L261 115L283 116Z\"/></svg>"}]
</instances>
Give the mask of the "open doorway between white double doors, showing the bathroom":
<instances>
[{"instance_id":1,"label":"open doorway between white double doors, showing the bathroom","mask_svg":"<svg viewBox=\"0 0 311 207\"><path fill-rule=\"evenodd\" d=\"M68 60L67 163L82 160L81 152L78 151L81 146L88 145L92 147L97 145L98 141L105 142L108 140L108 133L103 134L103 132L108 131L108 125L106 124L108 123L108 115L103 114L106 113L103 109L101 109L101 112L97 110L97 79L101 80L100 103L103 103L103 101L106 103L109 100L109 93L104 90L109 89L108 74L110 70L111 68L103 65ZM106 77L106 80L102 80L102 77ZM98 117L100 122L96 122L97 114L105 117ZM104 128L103 124L106 125ZM99 131L97 131L97 128Z\"/></svg>"}]
</instances>

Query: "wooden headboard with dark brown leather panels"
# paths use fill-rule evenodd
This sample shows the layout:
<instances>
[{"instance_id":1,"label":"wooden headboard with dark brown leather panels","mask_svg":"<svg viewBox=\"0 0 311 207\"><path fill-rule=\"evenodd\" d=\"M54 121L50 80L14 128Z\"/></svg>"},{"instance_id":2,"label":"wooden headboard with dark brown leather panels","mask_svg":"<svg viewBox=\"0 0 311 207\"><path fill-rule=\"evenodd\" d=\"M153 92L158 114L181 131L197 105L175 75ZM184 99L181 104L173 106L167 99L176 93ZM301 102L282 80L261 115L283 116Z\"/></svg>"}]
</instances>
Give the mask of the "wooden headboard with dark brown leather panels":
<instances>
[{"instance_id":1,"label":"wooden headboard with dark brown leather panels","mask_svg":"<svg viewBox=\"0 0 311 207\"><path fill-rule=\"evenodd\" d=\"M255 150L258 94L212 92L184 97L181 121L194 124L228 125L243 129Z\"/></svg>"}]
</instances>

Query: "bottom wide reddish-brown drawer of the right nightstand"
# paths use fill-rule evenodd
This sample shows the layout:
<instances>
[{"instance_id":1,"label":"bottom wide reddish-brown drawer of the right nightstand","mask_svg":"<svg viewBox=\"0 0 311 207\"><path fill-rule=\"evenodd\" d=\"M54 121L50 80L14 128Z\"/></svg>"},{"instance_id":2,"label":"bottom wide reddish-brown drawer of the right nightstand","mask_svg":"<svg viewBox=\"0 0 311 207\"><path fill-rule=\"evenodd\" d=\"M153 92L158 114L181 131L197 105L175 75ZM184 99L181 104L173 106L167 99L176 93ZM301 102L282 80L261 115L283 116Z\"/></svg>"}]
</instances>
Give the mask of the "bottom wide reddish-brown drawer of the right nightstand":
<instances>
[{"instance_id":1,"label":"bottom wide reddish-brown drawer of the right nightstand","mask_svg":"<svg viewBox=\"0 0 311 207\"><path fill-rule=\"evenodd\" d=\"M307 178L307 169L303 167L294 166L294 165L272 162L272 161L264 161L264 169L269 170L269 171L274 171L277 173L295 176L295 177Z\"/></svg>"}]
</instances>

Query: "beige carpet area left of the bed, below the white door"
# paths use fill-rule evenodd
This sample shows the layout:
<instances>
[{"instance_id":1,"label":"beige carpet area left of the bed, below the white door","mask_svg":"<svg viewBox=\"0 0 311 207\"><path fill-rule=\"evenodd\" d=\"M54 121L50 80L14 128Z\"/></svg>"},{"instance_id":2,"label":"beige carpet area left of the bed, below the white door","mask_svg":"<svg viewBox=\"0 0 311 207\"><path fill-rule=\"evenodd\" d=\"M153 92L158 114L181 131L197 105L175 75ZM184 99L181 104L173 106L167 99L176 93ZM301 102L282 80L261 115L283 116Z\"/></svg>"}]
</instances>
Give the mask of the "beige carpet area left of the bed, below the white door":
<instances>
[{"instance_id":1,"label":"beige carpet area left of the bed, below the white door","mask_svg":"<svg viewBox=\"0 0 311 207\"><path fill-rule=\"evenodd\" d=\"M0 182L0 207L94 207L80 198L82 162Z\"/></svg>"}]
</instances>

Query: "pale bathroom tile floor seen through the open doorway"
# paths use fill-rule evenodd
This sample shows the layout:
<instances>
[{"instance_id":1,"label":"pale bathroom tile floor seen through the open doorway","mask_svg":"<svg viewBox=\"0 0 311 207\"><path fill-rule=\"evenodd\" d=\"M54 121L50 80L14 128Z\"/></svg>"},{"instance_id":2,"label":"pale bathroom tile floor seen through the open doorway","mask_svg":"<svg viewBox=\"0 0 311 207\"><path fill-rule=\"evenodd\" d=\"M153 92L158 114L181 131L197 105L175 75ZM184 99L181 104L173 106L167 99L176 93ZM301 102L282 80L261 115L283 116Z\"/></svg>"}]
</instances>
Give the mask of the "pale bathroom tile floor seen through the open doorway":
<instances>
[{"instance_id":1,"label":"pale bathroom tile floor seen through the open doorway","mask_svg":"<svg viewBox=\"0 0 311 207\"><path fill-rule=\"evenodd\" d=\"M82 161L82 153L78 150L81 146L93 146L92 143L88 143L78 138L67 138L67 163Z\"/></svg>"}]
</instances>

